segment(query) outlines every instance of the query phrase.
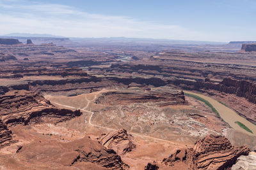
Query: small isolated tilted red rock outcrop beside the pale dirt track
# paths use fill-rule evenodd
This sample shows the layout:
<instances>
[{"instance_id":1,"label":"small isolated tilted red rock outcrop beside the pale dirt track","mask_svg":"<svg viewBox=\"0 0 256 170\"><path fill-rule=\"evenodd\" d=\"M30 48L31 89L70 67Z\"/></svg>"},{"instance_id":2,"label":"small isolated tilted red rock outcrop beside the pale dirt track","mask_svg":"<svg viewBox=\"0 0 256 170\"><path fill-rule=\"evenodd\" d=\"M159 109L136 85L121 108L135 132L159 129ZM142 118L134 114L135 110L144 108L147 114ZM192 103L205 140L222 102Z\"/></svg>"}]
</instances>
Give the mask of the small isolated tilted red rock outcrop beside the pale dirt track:
<instances>
[{"instance_id":1,"label":"small isolated tilted red rock outcrop beside the pale dirt track","mask_svg":"<svg viewBox=\"0 0 256 170\"><path fill-rule=\"evenodd\" d=\"M121 129L118 132L102 134L98 140L106 148L115 150L118 155L131 152L134 148L136 148L133 136L128 134L125 129Z\"/></svg>"}]
</instances>

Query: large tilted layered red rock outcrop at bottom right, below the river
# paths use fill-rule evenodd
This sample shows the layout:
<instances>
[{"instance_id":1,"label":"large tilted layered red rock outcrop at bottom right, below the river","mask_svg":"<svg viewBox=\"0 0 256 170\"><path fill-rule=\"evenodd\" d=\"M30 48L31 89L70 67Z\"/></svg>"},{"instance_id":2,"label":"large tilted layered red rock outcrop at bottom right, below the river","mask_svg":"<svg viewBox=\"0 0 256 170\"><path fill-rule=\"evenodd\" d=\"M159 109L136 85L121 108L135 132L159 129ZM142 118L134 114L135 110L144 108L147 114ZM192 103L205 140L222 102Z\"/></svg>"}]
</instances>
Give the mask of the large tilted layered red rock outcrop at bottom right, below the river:
<instances>
[{"instance_id":1,"label":"large tilted layered red rock outcrop at bottom right, below the river","mask_svg":"<svg viewBox=\"0 0 256 170\"><path fill-rule=\"evenodd\" d=\"M249 148L234 147L223 136L209 135L196 141L194 148L177 150L163 164L172 169L226 169L232 167L241 155L248 155Z\"/></svg>"}]
</instances>

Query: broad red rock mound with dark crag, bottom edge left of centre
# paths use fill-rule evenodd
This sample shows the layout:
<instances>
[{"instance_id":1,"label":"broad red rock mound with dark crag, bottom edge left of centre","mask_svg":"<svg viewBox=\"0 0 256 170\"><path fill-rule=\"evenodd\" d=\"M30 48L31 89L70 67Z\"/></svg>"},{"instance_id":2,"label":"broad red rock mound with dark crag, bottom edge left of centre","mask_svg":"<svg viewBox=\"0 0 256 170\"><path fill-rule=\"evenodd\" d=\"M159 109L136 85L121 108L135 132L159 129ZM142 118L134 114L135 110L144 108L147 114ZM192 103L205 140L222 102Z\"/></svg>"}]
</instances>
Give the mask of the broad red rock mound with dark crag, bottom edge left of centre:
<instances>
[{"instance_id":1,"label":"broad red rock mound with dark crag, bottom edge left of centre","mask_svg":"<svg viewBox=\"0 0 256 170\"><path fill-rule=\"evenodd\" d=\"M97 141L93 141L88 136L68 143L42 141L34 142L23 146L19 154L33 164L42 164L63 169L64 167L77 167L83 163L82 169L128 169L129 166L122 162L114 150L107 149ZM99 166L99 167L98 167ZM85 168L87 169L87 168Z\"/></svg>"}]
</instances>

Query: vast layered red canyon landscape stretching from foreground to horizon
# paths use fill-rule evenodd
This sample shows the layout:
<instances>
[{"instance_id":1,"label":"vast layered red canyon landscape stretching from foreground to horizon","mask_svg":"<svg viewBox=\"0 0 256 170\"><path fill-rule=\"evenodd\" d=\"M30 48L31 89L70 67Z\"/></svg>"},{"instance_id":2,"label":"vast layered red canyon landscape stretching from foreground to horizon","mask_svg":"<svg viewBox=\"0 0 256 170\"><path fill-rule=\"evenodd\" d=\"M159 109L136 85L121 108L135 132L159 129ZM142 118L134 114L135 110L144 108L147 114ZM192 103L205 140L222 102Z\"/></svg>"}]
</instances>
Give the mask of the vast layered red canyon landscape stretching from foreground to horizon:
<instances>
[{"instance_id":1,"label":"vast layered red canyon landscape stretching from foreground to horizon","mask_svg":"<svg viewBox=\"0 0 256 170\"><path fill-rule=\"evenodd\" d=\"M2 169L253 165L254 129L209 105L256 124L255 53L244 42L18 39L0 39Z\"/></svg>"}]
</instances>

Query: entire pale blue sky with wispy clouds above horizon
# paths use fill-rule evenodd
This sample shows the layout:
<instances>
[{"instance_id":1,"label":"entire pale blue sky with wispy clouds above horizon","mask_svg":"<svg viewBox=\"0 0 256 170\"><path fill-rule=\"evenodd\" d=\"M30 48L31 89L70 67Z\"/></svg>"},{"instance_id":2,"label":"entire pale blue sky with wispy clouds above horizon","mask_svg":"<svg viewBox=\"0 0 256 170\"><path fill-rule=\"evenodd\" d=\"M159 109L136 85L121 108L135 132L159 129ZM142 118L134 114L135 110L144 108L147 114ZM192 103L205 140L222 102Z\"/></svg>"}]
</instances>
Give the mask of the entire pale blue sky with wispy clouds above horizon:
<instances>
[{"instance_id":1,"label":"entire pale blue sky with wispy clouds above horizon","mask_svg":"<svg viewBox=\"0 0 256 170\"><path fill-rule=\"evenodd\" d=\"M0 0L0 35L256 40L255 0Z\"/></svg>"}]
</instances>

